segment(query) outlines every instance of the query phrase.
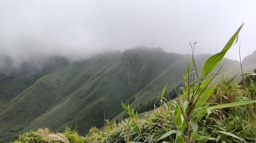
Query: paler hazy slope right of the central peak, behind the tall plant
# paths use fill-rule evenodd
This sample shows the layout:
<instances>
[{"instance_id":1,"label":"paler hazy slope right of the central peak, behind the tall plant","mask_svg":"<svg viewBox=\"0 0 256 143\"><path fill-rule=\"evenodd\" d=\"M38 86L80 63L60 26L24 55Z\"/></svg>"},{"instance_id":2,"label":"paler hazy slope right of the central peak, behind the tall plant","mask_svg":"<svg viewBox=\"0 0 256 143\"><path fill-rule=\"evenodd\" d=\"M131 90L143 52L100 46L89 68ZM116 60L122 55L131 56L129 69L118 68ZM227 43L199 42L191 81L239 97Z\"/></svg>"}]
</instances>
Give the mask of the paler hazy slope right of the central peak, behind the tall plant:
<instances>
[{"instance_id":1,"label":"paler hazy slope right of the central peak, behind the tall plant","mask_svg":"<svg viewBox=\"0 0 256 143\"><path fill-rule=\"evenodd\" d=\"M195 61L197 63L198 71L201 72L202 66L207 58L209 58L210 54L202 54L202 55L196 55ZM159 96L161 93L161 89L167 84L167 91L171 91L173 87L176 87L178 84L183 82L183 74L184 71L187 69L187 60L191 59L191 56L185 56L185 58L181 59L180 61L176 62L175 64L172 64L171 66L167 67L163 72L158 75L154 80L152 80L150 83L148 83L145 87L143 87L139 93L135 95L136 99L134 102L129 103L132 108L136 108L140 106L140 103L147 103L148 101L151 101L154 97ZM221 67L221 65L224 64L225 72L229 72L234 67L239 67L240 63L238 61L233 61L229 59L223 59L221 63L219 64L218 68ZM183 71L183 72L182 72ZM217 72L215 70L215 72ZM201 74L201 73L200 73ZM227 74L227 77L233 78L237 73L230 73ZM195 76L196 77L196 76ZM220 76L217 76L215 79L215 82L219 81L221 79ZM123 115L125 115L126 112L123 111L119 115L117 115L112 121L122 118Z\"/></svg>"}]
</instances>

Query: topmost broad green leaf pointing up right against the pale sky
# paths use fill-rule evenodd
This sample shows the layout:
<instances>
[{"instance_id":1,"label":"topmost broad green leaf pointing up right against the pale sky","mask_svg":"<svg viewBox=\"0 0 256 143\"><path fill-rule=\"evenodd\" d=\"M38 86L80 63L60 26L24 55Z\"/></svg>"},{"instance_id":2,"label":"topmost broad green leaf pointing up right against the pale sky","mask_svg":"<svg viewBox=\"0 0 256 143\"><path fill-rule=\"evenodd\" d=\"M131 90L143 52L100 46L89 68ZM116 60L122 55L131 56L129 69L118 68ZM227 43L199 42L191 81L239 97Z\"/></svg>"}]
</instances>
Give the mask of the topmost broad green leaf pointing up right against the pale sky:
<instances>
[{"instance_id":1,"label":"topmost broad green leaf pointing up right against the pale sky","mask_svg":"<svg viewBox=\"0 0 256 143\"><path fill-rule=\"evenodd\" d=\"M221 59L227 53L227 50L229 50L232 47L232 45L235 42L243 25L244 25L244 23L239 27L239 29L236 31L236 33L230 38L230 40L227 42L227 44L221 50L220 53L216 53L215 55L213 55L213 56L209 57L209 59L207 59L207 61L204 63L203 69L202 69L201 81L204 80L204 78L215 69L215 67L218 65L218 63L221 61Z\"/></svg>"}]
</instances>

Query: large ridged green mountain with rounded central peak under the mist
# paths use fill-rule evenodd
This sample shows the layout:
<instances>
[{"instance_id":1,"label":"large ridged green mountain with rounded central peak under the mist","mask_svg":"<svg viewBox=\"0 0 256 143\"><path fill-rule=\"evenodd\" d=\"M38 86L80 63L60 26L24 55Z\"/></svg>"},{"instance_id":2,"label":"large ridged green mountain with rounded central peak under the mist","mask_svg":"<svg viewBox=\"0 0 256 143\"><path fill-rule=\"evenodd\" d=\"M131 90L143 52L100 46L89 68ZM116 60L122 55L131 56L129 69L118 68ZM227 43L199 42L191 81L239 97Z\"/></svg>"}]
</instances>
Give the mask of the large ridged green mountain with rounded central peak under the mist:
<instances>
[{"instance_id":1,"label":"large ridged green mountain with rounded central peak under the mist","mask_svg":"<svg viewBox=\"0 0 256 143\"><path fill-rule=\"evenodd\" d=\"M209 56L195 55L198 71ZM173 84L183 81L190 59L138 46L73 62L42 76L0 111L0 142L42 127L61 132L77 124L82 127L79 132L86 134L91 126L102 127L104 119L122 117L121 100L135 108L160 95L166 84L167 91L172 90ZM240 63L224 58L219 67L224 63L228 77L233 77L232 70Z\"/></svg>"}]
</instances>

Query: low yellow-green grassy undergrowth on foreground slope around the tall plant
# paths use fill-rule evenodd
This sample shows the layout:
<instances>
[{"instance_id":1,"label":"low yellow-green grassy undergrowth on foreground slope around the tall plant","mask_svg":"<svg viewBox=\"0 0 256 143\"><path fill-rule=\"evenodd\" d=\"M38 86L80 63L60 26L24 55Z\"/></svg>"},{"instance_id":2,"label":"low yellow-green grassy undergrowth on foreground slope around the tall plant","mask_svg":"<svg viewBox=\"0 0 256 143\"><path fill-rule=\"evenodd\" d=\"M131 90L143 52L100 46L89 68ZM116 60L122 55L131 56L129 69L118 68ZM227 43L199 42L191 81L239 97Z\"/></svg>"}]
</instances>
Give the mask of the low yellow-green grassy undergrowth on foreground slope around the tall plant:
<instances>
[{"instance_id":1,"label":"low yellow-green grassy undergrowth on foreground slope around the tall plant","mask_svg":"<svg viewBox=\"0 0 256 143\"><path fill-rule=\"evenodd\" d=\"M247 81L251 77L253 76L249 76L245 80ZM234 79L224 80L224 84L215 84L210 98L206 101L206 104L210 103L209 107L247 100L245 87L239 86L236 82L230 83L230 81L234 81ZM251 83L254 84L248 83L247 88L255 98L256 80ZM179 100L172 101L171 104L163 104L164 106L155 109L145 118L138 118L136 113L134 115L130 112L129 118L117 124L105 121L106 125L102 129L93 127L85 137L80 136L76 129L71 130L70 128L66 128L61 134L67 137L70 143L126 143L127 140L130 143L163 143L163 141L172 143L175 142L177 136L174 134L174 130L178 130L174 118L177 102ZM204 142L205 140L209 143L255 142L255 128L252 126L255 118L250 117L250 109L247 105L214 109L211 112L209 115L204 114L197 123L197 134L200 135L200 139L204 139ZM164 137L166 132L169 132L170 135ZM39 133L40 130L20 135L19 140L14 143L42 143L44 140L38 135ZM55 143L57 142L55 141Z\"/></svg>"}]
</instances>

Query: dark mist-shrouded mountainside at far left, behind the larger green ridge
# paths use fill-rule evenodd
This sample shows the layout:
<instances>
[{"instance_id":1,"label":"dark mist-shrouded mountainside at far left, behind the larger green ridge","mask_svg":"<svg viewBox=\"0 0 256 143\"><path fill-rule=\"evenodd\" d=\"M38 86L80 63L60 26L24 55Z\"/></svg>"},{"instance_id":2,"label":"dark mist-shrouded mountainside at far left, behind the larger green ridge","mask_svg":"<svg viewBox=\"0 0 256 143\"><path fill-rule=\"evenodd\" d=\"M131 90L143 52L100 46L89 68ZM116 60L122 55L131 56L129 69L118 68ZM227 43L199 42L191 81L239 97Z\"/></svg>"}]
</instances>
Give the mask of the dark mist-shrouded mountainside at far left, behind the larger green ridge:
<instances>
[{"instance_id":1,"label":"dark mist-shrouded mountainside at far left, behind the larger green ridge","mask_svg":"<svg viewBox=\"0 0 256 143\"><path fill-rule=\"evenodd\" d=\"M0 58L0 110L42 76L55 73L70 64L67 58L47 56L15 65L8 56Z\"/></svg>"}]
</instances>

